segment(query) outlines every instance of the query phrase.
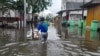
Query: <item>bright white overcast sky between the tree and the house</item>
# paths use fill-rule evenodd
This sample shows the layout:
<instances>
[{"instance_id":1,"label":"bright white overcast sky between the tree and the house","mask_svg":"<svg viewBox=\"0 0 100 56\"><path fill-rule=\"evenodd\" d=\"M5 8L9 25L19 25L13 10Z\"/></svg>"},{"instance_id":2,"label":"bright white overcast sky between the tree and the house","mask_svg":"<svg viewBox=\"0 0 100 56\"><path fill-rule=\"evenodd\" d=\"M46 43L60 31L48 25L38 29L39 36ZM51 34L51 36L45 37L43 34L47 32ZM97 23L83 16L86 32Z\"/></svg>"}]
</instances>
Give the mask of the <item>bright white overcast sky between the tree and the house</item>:
<instances>
[{"instance_id":1,"label":"bright white overcast sky between the tree and the house","mask_svg":"<svg viewBox=\"0 0 100 56\"><path fill-rule=\"evenodd\" d=\"M61 0L52 0L52 6L48 7L47 10L44 10L43 14L47 15L48 13L56 16L57 12L61 10ZM41 13L42 14L42 13Z\"/></svg>"}]
</instances>

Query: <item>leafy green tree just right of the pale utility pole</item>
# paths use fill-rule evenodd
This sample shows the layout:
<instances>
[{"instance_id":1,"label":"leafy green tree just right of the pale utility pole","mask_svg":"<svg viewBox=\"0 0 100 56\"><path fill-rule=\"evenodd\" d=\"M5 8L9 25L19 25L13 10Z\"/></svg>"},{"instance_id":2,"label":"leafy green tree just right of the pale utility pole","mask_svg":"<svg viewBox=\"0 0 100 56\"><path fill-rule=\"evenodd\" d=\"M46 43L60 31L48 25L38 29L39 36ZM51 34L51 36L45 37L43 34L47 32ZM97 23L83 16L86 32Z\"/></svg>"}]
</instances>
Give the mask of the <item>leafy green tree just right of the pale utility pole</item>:
<instances>
[{"instance_id":1,"label":"leafy green tree just right of the pale utility pole","mask_svg":"<svg viewBox=\"0 0 100 56\"><path fill-rule=\"evenodd\" d=\"M48 6L51 6L51 0L29 0L28 5L32 6L32 16L33 16L34 13L43 11L44 9L47 9Z\"/></svg>"}]
</instances>

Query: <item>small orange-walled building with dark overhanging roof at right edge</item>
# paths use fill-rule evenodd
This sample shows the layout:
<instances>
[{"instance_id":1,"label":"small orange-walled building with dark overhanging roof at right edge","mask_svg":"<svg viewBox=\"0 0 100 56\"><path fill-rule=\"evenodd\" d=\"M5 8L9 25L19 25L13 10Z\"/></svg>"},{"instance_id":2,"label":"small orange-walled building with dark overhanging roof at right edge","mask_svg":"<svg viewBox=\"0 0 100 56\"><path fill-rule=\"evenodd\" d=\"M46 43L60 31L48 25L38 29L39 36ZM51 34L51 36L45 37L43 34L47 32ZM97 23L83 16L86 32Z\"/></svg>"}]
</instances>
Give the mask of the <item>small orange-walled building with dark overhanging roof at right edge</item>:
<instances>
[{"instance_id":1,"label":"small orange-walled building with dark overhanging roof at right edge","mask_svg":"<svg viewBox=\"0 0 100 56\"><path fill-rule=\"evenodd\" d=\"M86 25L90 26L92 20L100 21L100 0L92 0L82 7L87 8Z\"/></svg>"}]
</instances>

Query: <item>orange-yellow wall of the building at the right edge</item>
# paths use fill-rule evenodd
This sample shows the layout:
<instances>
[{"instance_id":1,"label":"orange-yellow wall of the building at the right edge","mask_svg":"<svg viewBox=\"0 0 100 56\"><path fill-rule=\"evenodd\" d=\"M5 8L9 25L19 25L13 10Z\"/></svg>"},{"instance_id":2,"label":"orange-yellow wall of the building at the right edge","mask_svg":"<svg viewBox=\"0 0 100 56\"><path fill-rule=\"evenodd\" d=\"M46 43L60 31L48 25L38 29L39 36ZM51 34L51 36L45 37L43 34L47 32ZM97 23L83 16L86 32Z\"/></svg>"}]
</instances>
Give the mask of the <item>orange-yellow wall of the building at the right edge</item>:
<instances>
[{"instance_id":1,"label":"orange-yellow wall of the building at the right edge","mask_svg":"<svg viewBox=\"0 0 100 56\"><path fill-rule=\"evenodd\" d=\"M88 9L86 25L90 26L92 20L100 21L100 5Z\"/></svg>"}]
</instances>

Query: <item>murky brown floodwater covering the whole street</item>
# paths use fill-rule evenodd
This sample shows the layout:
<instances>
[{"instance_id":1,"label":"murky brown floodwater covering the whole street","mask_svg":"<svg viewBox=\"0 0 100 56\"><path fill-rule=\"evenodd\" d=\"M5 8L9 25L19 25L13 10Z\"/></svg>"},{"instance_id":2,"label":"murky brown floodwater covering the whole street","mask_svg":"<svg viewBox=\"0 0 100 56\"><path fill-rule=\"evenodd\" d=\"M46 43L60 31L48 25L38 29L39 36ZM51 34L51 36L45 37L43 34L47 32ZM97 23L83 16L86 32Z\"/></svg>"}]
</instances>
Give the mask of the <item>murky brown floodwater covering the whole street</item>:
<instances>
[{"instance_id":1,"label":"murky brown floodwater covering the whole street","mask_svg":"<svg viewBox=\"0 0 100 56\"><path fill-rule=\"evenodd\" d=\"M100 56L100 33L63 27L62 36L49 26L48 41L32 38L32 27L0 28L0 56Z\"/></svg>"}]
</instances>

